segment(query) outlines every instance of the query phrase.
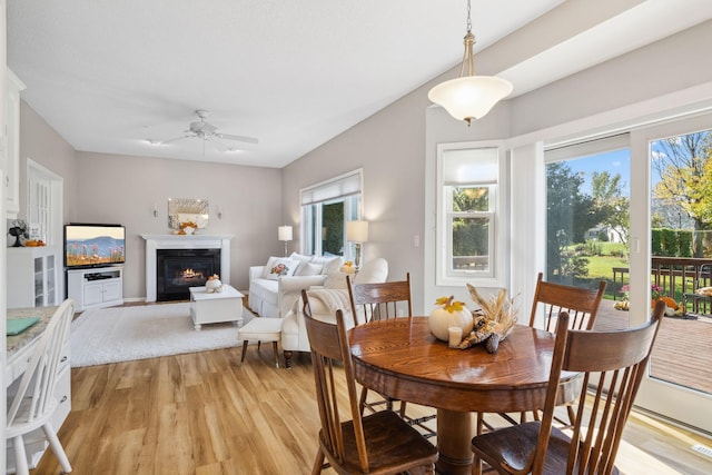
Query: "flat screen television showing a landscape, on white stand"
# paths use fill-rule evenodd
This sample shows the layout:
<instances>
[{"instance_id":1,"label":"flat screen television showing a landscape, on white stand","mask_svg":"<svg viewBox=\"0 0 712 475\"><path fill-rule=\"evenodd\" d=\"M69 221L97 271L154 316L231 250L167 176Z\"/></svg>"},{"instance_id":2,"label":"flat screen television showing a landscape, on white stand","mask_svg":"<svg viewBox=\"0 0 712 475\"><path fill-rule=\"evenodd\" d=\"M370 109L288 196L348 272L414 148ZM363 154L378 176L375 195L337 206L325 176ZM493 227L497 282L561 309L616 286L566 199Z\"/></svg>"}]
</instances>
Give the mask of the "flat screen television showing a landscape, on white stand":
<instances>
[{"instance_id":1,"label":"flat screen television showing a landscape, on white stand","mask_svg":"<svg viewBox=\"0 0 712 475\"><path fill-rule=\"evenodd\" d=\"M65 267L107 267L126 263L126 228L121 225L65 225Z\"/></svg>"}]
</instances>

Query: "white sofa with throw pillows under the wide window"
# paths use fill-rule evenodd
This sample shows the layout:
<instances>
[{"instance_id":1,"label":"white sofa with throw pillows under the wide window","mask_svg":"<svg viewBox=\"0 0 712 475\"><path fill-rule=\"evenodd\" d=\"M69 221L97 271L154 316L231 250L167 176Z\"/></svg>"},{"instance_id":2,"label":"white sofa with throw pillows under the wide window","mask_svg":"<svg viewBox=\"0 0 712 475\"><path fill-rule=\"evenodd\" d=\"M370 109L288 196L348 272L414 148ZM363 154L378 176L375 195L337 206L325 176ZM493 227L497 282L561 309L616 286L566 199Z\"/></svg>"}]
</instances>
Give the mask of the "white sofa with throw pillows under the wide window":
<instances>
[{"instance_id":1,"label":"white sofa with throw pillows under the wide window","mask_svg":"<svg viewBox=\"0 0 712 475\"><path fill-rule=\"evenodd\" d=\"M249 308L260 317L281 318L299 299L301 289L323 285L342 264L340 256L273 256L266 265L249 268Z\"/></svg>"}]
</instances>

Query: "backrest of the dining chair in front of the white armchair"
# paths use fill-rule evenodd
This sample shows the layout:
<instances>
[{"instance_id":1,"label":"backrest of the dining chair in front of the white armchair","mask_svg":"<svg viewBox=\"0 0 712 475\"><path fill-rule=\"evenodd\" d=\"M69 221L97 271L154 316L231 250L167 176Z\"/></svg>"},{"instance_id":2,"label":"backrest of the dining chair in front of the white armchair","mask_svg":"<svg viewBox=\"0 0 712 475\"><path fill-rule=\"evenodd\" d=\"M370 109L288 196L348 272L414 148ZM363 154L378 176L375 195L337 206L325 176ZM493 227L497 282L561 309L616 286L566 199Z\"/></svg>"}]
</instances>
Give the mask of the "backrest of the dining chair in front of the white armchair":
<instances>
[{"instance_id":1,"label":"backrest of the dining chair in front of the white armchair","mask_svg":"<svg viewBox=\"0 0 712 475\"><path fill-rule=\"evenodd\" d=\"M403 316L413 316L409 273L405 280L398 281L354 284L350 276L346 276L346 281L355 325L396 318L399 311Z\"/></svg>"}]
</instances>

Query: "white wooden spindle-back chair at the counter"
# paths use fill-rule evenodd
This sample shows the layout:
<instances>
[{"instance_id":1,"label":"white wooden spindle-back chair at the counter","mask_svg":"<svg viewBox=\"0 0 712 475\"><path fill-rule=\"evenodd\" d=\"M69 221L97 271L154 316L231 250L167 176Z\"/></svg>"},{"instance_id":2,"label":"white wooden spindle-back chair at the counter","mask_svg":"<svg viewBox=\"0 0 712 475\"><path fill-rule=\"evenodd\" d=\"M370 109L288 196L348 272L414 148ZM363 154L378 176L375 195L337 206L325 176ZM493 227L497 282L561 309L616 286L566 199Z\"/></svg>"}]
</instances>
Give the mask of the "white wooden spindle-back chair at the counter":
<instances>
[{"instance_id":1,"label":"white wooden spindle-back chair at the counter","mask_svg":"<svg viewBox=\"0 0 712 475\"><path fill-rule=\"evenodd\" d=\"M55 397L57 368L62 343L67 338L73 315L75 301L69 298L55 311L47 329L39 337L18 392L11 400L8 400L6 437L12 441L18 475L29 474L23 436L39 427L44 432L62 471L71 472L71 465L52 427L51 419L58 405Z\"/></svg>"}]
</instances>

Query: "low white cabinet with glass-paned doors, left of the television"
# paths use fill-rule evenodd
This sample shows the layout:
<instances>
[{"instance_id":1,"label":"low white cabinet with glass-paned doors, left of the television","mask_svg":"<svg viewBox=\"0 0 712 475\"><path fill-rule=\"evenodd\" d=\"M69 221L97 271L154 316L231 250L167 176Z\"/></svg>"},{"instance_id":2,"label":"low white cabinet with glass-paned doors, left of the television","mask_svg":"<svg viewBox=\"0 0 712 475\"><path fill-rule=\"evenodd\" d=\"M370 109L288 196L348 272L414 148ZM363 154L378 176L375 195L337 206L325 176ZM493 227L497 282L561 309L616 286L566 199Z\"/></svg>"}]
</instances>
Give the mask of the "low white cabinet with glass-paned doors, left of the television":
<instances>
[{"instance_id":1,"label":"low white cabinet with glass-paned doors, left of the television","mask_svg":"<svg viewBox=\"0 0 712 475\"><path fill-rule=\"evenodd\" d=\"M57 249L8 247L8 308L59 305Z\"/></svg>"}]
</instances>

